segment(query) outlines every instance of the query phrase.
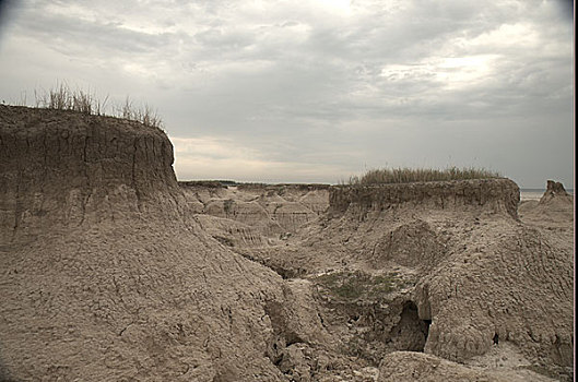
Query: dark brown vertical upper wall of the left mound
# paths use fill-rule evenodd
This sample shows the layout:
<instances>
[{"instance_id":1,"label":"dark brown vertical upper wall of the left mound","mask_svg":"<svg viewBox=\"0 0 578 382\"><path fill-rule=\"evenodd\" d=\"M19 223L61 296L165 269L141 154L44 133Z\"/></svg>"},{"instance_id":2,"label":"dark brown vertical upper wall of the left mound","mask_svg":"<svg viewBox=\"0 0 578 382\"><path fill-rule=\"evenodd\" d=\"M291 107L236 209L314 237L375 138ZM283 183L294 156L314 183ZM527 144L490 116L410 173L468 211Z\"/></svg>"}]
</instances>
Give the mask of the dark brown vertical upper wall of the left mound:
<instances>
[{"instance_id":1,"label":"dark brown vertical upper wall of the left mound","mask_svg":"<svg viewBox=\"0 0 578 382\"><path fill-rule=\"evenodd\" d=\"M156 128L111 117L0 106L4 239L154 208L177 189L173 145ZM166 196L165 195L165 196ZM113 205L115 205L113 207Z\"/></svg>"}]
</instances>

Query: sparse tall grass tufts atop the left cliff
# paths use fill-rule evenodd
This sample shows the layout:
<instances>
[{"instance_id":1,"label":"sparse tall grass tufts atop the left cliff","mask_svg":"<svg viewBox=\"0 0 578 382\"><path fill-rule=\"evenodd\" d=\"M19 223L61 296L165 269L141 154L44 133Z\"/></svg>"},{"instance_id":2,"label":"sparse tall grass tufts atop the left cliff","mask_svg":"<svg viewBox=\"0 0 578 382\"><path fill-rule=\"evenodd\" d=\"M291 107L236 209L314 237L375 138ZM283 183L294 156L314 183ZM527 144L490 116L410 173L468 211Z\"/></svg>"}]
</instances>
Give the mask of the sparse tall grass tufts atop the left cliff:
<instances>
[{"instance_id":1,"label":"sparse tall grass tufts atop the left cliff","mask_svg":"<svg viewBox=\"0 0 578 382\"><path fill-rule=\"evenodd\" d=\"M71 89L66 83L59 83L49 91L35 91L34 97L36 98L36 107L39 108L122 118L141 122L151 128L163 129L163 120L156 110L148 104L141 107L135 106L129 97L120 105L113 105L113 112L106 112L108 96L101 99L90 91ZM26 104L25 97L19 103L20 106L27 106Z\"/></svg>"}]
</instances>

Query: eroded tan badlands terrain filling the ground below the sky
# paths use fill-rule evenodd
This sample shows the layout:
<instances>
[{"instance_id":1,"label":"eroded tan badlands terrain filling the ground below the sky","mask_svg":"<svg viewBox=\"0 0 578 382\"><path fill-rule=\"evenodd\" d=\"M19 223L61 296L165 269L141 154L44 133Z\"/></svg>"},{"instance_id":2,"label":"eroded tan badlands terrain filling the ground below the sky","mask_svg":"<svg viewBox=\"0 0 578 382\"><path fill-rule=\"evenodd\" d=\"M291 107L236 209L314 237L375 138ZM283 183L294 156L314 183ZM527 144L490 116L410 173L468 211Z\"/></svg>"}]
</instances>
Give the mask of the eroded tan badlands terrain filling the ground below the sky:
<instances>
[{"instance_id":1,"label":"eroded tan badlands terrain filling the ground below the sky","mask_svg":"<svg viewBox=\"0 0 578 382\"><path fill-rule=\"evenodd\" d=\"M570 381L548 181L178 182L166 134L0 106L1 381Z\"/></svg>"}]
</instances>

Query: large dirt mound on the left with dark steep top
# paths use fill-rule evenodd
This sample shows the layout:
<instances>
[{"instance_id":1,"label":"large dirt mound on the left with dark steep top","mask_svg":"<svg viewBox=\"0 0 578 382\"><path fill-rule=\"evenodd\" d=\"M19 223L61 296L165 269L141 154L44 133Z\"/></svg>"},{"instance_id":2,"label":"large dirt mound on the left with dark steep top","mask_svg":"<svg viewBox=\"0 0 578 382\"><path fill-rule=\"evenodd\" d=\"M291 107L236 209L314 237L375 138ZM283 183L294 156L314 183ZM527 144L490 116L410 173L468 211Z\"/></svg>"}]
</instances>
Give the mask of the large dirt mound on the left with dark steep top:
<instances>
[{"instance_id":1,"label":"large dirt mound on the left with dark steep top","mask_svg":"<svg viewBox=\"0 0 578 382\"><path fill-rule=\"evenodd\" d=\"M282 279L191 218L166 135L0 106L0 375L275 381Z\"/></svg>"}]
</instances>

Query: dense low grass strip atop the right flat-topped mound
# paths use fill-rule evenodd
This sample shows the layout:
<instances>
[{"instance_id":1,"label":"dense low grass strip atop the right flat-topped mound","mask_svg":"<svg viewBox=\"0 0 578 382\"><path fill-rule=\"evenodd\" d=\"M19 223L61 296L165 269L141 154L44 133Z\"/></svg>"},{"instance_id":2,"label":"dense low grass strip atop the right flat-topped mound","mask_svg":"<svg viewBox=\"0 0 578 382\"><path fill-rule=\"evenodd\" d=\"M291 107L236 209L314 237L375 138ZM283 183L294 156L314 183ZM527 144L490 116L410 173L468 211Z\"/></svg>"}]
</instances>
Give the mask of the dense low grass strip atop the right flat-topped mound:
<instances>
[{"instance_id":1,"label":"dense low grass strip atop the right flat-topped mound","mask_svg":"<svg viewBox=\"0 0 578 382\"><path fill-rule=\"evenodd\" d=\"M389 183L410 183L426 181L448 181L448 180L467 180L467 179L492 179L502 178L496 171L485 168L458 168L448 167L446 169L434 168L379 168L368 170L362 176L350 177L351 186L371 186Z\"/></svg>"}]
</instances>

